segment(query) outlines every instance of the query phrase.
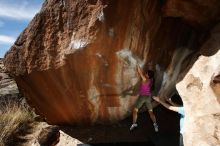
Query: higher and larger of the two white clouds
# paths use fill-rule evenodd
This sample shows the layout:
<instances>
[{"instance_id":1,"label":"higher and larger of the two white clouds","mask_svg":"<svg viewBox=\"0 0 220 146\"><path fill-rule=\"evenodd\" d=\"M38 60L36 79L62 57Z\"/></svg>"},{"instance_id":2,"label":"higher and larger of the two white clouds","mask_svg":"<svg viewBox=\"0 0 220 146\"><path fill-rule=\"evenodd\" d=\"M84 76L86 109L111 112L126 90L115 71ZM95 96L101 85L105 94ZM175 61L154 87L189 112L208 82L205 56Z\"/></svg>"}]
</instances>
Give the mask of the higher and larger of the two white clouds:
<instances>
[{"instance_id":1,"label":"higher and larger of the two white clouds","mask_svg":"<svg viewBox=\"0 0 220 146\"><path fill-rule=\"evenodd\" d=\"M32 6L27 2L20 4L9 4L0 2L0 17L16 20L30 20L40 10L40 6Z\"/></svg>"}]
</instances>

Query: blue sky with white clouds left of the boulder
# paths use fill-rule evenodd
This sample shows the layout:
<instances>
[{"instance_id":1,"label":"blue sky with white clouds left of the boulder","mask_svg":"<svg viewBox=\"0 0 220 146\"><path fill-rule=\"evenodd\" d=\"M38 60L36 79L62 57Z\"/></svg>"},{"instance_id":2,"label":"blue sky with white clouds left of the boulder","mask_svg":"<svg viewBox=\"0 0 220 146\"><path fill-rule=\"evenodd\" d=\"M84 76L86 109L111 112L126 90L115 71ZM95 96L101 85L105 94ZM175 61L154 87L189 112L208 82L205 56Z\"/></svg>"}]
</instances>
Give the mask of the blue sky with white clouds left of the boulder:
<instances>
[{"instance_id":1,"label":"blue sky with white clouds left of the boulder","mask_svg":"<svg viewBox=\"0 0 220 146\"><path fill-rule=\"evenodd\" d=\"M44 0L0 0L0 58L39 12Z\"/></svg>"}]
</instances>

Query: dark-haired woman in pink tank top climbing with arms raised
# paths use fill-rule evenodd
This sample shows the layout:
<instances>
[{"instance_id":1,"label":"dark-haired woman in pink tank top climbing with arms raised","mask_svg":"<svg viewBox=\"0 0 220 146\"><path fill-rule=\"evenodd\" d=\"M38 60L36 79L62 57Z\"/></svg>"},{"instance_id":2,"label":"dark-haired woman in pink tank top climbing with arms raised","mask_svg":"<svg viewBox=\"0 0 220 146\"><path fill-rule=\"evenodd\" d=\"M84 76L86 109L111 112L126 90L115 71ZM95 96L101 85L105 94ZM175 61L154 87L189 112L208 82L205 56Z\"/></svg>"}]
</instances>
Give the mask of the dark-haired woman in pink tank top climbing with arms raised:
<instances>
[{"instance_id":1,"label":"dark-haired woman in pink tank top climbing with arms raised","mask_svg":"<svg viewBox=\"0 0 220 146\"><path fill-rule=\"evenodd\" d=\"M144 73L138 65L137 65L137 72L141 77L141 85L139 87L139 96L135 103L135 107L133 109L133 124L131 125L130 130L132 131L134 128L138 126L137 125L138 110L139 108L142 107L142 105L146 104L148 113L150 114L150 118L153 121L154 130L155 132L158 132L158 125L151 104L151 96L152 96L151 92L154 82L153 81L154 72L152 70L148 70L147 73Z\"/></svg>"}]
</instances>

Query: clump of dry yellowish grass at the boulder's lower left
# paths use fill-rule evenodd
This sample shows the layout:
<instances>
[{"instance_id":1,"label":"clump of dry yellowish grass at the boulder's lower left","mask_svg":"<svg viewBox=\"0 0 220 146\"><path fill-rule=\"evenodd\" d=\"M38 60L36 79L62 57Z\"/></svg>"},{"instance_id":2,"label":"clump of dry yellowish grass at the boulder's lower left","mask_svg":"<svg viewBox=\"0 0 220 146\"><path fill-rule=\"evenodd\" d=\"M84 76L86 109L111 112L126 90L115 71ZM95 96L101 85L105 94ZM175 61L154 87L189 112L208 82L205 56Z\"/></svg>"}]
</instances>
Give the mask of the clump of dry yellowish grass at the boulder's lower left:
<instances>
[{"instance_id":1,"label":"clump of dry yellowish grass at the boulder's lower left","mask_svg":"<svg viewBox=\"0 0 220 146\"><path fill-rule=\"evenodd\" d=\"M34 127L34 114L27 105L19 101L0 102L0 146L22 145Z\"/></svg>"}]
</instances>

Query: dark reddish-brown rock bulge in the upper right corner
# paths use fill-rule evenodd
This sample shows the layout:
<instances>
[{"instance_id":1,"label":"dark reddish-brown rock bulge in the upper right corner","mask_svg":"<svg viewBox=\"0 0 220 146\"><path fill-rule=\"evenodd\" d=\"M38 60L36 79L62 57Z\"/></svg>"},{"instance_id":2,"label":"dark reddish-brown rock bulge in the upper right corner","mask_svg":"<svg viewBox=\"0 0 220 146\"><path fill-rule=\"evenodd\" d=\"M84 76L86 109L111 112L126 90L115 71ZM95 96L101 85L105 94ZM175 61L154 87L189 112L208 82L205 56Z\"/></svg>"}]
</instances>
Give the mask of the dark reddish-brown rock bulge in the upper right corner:
<instances>
[{"instance_id":1,"label":"dark reddish-brown rock bulge in the upper right corner","mask_svg":"<svg viewBox=\"0 0 220 146\"><path fill-rule=\"evenodd\" d=\"M195 27L207 27L220 20L218 0L166 0L163 15L184 18Z\"/></svg>"}]
</instances>

